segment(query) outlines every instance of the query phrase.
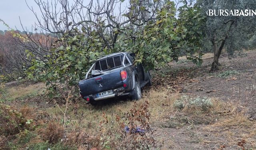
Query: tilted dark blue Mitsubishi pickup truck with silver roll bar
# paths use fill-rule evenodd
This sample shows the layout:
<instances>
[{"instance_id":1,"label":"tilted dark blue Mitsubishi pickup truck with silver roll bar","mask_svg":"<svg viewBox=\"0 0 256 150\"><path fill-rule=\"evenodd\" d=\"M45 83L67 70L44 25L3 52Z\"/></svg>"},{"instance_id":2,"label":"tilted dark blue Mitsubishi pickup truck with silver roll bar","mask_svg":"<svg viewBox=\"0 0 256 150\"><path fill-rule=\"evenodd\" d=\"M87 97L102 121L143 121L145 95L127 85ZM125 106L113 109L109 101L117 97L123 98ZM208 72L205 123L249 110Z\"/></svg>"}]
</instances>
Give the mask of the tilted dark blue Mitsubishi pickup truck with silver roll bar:
<instances>
[{"instance_id":1,"label":"tilted dark blue Mitsubishi pickup truck with silver roll bar","mask_svg":"<svg viewBox=\"0 0 256 150\"><path fill-rule=\"evenodd\" d=\"M134 54L130 52L118 52L96 60L85 79L79 82L81 97L91 104L124 95L139 100L141 88L152 85L152 81L142 64L135 66L133 62Z\"/></svg>"}]
</instances>

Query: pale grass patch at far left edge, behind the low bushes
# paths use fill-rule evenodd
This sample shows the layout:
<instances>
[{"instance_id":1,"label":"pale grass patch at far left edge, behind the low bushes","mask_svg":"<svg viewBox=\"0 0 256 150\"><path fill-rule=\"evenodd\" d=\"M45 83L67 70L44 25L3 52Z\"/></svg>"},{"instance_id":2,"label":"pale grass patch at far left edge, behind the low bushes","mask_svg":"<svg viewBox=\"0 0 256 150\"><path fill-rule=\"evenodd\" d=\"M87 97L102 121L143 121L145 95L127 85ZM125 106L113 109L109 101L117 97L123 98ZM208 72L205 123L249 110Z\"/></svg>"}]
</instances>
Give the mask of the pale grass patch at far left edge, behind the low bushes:
<instances>
[{"instance_id":1,"label":"pale grass patch at far left edge, behind the low bushes","mask_svg":"<svg viewBox=\"0 0 256 150\"><path fill-rule=\"evenodd\" d=\"M13 86L2 91L1 101L13 101L43 94L44 83L37 83L28 86Z\"/></svg>"}]
</instances>

